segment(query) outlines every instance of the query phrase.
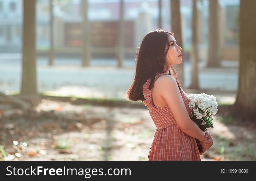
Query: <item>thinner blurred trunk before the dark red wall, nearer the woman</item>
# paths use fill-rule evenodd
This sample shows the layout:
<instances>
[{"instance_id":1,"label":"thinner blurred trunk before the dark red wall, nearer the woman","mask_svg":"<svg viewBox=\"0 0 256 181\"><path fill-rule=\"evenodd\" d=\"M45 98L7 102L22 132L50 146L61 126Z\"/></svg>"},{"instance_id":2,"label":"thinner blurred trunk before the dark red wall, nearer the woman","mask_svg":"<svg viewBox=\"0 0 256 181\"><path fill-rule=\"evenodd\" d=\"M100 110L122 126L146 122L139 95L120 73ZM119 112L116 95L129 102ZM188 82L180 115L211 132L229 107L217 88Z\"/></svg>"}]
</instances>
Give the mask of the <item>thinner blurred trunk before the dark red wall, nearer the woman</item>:
<instances>
[{"instance_id":1,"label":"thinner blurred trunk before the dark red wall, nearer the woman","mask_svg":"<svg viewBox=\"0 0 256 181\"><path fill-rule=\"evenodd\" d=\"M119 22L118 22L118 48L117 48L117 60L118 67L123 66L123 60L125 58L124 52L124 42L125 42L125 31L124 31L124 1L120 0L120 9L119 9Z\"/></svg>"}]
</instances>

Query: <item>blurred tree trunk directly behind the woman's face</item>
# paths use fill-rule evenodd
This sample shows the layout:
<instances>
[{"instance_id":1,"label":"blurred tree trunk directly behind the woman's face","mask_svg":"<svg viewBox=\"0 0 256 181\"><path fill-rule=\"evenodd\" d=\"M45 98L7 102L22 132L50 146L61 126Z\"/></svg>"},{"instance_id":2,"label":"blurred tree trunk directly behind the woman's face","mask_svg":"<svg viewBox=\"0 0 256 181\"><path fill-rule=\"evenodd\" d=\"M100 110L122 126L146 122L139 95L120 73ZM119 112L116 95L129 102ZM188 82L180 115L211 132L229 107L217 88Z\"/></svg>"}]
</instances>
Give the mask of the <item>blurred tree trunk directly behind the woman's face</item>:
<instances>
[{"instance_id":1,"label":"blurred tree trunk directly behind the woman's face","mask_svg":"<svg viewBox=\"0 0 256 181\"><path fill-rule=\"evenodd\" d=\"M181 35L181 24L180 24L180 5L179 0L170 0L171 5L171 31L175 35L175 40L177 44L182 47L182 35ZM184 54L183 54L184 61ZM174 65L178 69L177 78L179 83L183 85L184 83L184 63Z\"/></svg>"}]
</instances>

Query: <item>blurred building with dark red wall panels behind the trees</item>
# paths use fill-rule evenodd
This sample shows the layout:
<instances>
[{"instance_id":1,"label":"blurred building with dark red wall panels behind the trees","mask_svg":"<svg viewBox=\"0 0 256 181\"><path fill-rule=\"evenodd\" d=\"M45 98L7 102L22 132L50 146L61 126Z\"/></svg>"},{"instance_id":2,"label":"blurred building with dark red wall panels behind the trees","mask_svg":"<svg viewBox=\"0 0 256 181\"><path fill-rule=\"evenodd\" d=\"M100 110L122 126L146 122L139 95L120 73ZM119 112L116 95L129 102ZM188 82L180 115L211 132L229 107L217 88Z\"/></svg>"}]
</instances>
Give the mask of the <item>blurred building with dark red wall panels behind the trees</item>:
<instances>
[{"instance_id":1,"label":"blurred building with dark red wall panels behind the trees","mask_svg":"<svg viewBox=\"0 0 256 181\"><path fill-rule=\"evenodd\" d=\"M81 0L54 0L54 49L56 54L81 52ZM158 0L125 0L125 52L134 56L147 31L158 27ZM222 58L238 59L239 0L219 0ZM207 57L208 0L198 1L200 59ZM49 0L38 0L36 7L38 53L49 48ZM183 51L191 48L192 1L181 0ZM22 0L0 0L0 53L21 52ZM89 0L91 46L94 56L114 57L117 46L119 0ZM162 29L171 30L170 2L162 0Z\"/></svg>"}]
</instances>

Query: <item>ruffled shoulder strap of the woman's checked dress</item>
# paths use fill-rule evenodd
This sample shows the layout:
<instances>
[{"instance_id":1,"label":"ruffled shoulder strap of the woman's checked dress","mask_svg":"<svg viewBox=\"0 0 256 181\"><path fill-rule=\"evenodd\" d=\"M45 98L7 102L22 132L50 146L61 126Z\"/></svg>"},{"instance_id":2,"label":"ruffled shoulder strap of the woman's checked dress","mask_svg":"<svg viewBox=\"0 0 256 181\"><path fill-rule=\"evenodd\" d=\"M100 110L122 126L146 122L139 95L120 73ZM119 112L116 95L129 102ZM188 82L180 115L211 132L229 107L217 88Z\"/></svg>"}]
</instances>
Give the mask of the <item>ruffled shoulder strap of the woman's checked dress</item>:
<instances>
[{"instance_id":1,"label":"ruffled shoulder strap of the woman's checked dress","mask_svg":"<svg viewBox=\"0 0 256 181\"><path fill-rule=\"evenodd\" d=\"M157 74L155 76L155 80L157 80L157 78L159 78L159 76L161 76L163 74L166 74L166 73L157 72ZM166 75L169 75L169 74L166 74ZM145 106L152 106L152 107L154 107L154 104L153 104L153 101L152 101L152 89L149 89L149 85L150 85L150 81L151 81L150 79L151 78L149 78L147 80L147 82L143 85L143 89L142 89L144 98L149 102L149 104L147 105L146 100L144 100L142 102L144 102ZM179 81L176 78L175 78L175 80L176 80L176 82L178 84L178 87L180 89Z\"/></svg>"}]
</instances>

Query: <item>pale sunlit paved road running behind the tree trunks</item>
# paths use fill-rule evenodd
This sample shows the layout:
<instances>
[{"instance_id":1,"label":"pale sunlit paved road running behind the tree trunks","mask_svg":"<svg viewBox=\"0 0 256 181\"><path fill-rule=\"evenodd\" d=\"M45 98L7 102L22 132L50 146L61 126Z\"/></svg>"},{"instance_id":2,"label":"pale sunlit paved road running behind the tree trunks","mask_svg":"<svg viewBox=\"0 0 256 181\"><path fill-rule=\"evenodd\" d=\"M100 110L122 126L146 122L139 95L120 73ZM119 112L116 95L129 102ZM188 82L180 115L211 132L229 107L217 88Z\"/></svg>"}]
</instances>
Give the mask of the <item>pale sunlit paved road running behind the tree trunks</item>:
<instances>
[{"instance_id":1,"label":"pale sunlit paved road running behind the tree trunks","mask_svg":"<svg viewBox=\"0 0 256 181\"><path fill-rule=\"evenodd\" d=\"M190 84L190 63L183 61L185 82ZM134 60L126 60L125 68L116 68L114 59L94 59L91 67L80 67L79 58L56 58L54 66L47 66L46 58L38 58L38 91L54 91L54 94L77 95L84 97L125 98L125 92L134 77ZM202 89L236 91L238 86L238 65L224 61L229 68L206 69L204 62L199 64L199 82ZM19 91L22 63L19 55L0 54L0 91ZM234 93L233 93L234 94ZM232 96L232 94L229 94ZM232 100L234 101L234 100ZM232 102L231 101L231 102Z\"/></svg>"}]
</instances>

